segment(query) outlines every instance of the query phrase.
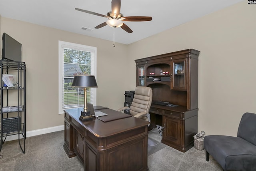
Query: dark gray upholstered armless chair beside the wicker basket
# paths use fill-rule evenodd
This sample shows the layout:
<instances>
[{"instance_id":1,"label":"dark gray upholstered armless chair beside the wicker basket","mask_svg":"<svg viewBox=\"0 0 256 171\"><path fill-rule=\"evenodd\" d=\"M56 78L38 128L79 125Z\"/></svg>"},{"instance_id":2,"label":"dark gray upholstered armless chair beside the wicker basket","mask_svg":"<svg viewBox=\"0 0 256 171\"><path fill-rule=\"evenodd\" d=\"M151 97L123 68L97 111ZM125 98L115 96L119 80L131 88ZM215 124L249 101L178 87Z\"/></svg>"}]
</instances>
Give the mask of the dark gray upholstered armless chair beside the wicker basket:
<instances>
[{"instance_id":1,"label":"dark gray upholstered armless chair beside the wicker basket","mask_svg":"<svg viewBox=\"0 0 256 171\"><path fill-rule=\"evenodd\" d=\"M204 148L225 171L256 171L256 114L244 113L237 137L205 136Z\"/></svg>"}]
</instances>

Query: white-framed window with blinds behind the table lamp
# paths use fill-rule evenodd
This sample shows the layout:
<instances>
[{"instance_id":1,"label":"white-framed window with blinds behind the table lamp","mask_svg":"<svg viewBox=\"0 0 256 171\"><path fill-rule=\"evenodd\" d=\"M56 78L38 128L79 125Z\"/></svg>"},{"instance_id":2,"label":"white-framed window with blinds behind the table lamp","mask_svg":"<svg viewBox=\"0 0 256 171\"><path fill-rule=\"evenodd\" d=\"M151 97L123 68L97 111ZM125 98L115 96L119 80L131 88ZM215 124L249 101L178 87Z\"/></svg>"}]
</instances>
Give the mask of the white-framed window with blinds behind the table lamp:
<instances>
[{"instance_id":1,"label":"white-framed window with blinds behind the table lamp","mask_svg":"<svg viewBox=\"0 0 256 171\"><path fill-rule=\"evenodd\" d=\"M84 106L84 90L71 87L77 74L96 78L97 48L59 41L59 113ZM96 88L88 88L87 102L96 105Z\"/></svg>"}]
</instances>

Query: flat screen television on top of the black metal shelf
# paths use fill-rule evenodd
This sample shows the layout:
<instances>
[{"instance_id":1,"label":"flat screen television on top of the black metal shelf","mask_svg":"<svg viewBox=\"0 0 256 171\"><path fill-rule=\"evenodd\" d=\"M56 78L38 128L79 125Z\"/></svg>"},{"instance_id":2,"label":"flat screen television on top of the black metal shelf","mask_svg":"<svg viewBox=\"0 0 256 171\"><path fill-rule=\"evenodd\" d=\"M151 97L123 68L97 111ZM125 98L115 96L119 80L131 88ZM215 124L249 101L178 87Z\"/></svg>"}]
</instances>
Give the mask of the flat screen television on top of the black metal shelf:
<instances>
[{"instance_id":1,"label":"flat screen television on top of the black metal shelf","mask_svg":"<svg viewBox=\"0 0 256 171\"><path fill-rule=\"evenodd\" d=\"M21 62L21 44L8 34L3 34L2 60Z\"/></svg>"}]
</instances>

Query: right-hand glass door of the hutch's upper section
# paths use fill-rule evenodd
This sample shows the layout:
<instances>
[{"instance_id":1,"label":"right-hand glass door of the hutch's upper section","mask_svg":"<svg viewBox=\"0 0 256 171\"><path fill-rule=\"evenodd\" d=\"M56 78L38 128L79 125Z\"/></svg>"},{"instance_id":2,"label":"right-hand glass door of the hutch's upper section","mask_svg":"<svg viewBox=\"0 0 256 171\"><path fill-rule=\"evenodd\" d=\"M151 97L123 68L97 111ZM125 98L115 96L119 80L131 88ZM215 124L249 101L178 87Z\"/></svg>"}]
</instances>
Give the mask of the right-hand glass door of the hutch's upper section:
<instances>
[{"instance_id":1,"label":"right-hand glass door of the hutch's upper section","mask_svg":"<svg viewBox=\"0 0 256 171\"><path fill-rule=\"evenodd\" d=\"M187 88L187 59L173 60L172 61L172 89L184 89Z\"/></svg>"}]
</instances>

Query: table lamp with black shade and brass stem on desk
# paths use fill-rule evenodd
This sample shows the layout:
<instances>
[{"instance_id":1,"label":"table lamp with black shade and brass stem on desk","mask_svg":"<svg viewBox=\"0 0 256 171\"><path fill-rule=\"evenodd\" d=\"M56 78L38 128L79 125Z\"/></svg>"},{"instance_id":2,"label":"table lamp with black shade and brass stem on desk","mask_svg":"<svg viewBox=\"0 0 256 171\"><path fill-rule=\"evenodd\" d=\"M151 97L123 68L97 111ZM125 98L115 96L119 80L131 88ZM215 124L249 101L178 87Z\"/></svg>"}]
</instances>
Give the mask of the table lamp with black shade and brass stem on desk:
<instances>
[{"instance_id":1,"label":"table lamp with black shade and brass stem on desk","mask_svg":"<svg viewBox=\"0 0 256 171\"><path fill-rule=\"evenodd\" d=\"M71 86L78 88L82 87L84 90L84 111L81 111L79 119L82 121L91 120L92 116L87 107L86 87L98 87L95 77L91 75L76 75Z\"/></svg>"}]
</instances>

